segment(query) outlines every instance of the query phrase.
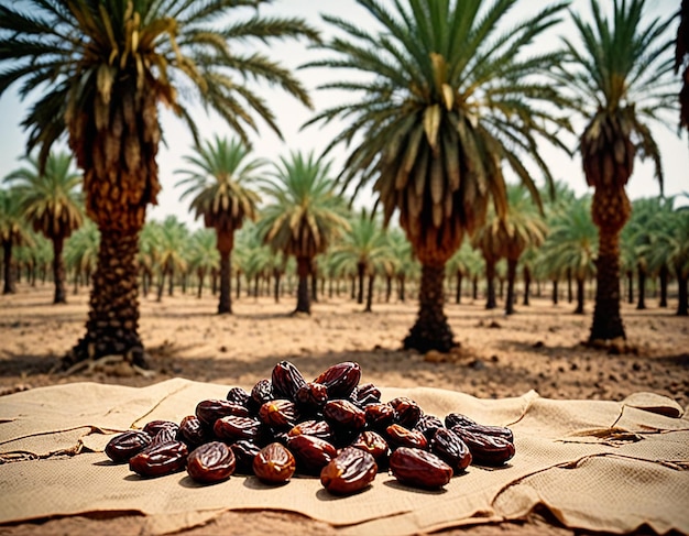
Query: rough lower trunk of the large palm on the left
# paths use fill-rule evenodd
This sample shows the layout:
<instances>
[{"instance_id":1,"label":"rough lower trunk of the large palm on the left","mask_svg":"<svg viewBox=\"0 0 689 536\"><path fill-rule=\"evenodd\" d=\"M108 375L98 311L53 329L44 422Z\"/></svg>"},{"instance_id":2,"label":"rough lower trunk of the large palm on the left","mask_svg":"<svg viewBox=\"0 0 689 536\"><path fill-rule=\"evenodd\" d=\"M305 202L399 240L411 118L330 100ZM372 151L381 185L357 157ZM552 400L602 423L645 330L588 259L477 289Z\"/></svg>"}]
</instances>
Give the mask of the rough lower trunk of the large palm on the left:
<instances>
[{"instance_id":1,"label":"rough lower trunk of the large palm on the left","mask_svg":"<svg viewBox=\"0 0 689 536\"><path fill-rule=\"evenodd\" d=\"M65 365L114 354L149 367L138 331L139 231L100 229L86 335L64 358Z\"/></svg>"}]
</instances>

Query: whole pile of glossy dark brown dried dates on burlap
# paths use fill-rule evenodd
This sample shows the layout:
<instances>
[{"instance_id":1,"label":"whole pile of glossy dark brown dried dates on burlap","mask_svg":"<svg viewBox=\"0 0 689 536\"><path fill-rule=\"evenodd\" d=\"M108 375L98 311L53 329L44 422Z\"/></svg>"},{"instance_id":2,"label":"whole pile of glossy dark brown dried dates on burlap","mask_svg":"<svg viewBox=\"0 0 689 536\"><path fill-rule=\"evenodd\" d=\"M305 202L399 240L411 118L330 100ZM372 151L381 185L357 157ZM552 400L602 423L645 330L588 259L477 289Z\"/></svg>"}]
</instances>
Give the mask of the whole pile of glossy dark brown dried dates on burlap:
<instances>
[{"instance_id":1,"label":"whole pile of glossy dark brown dried dates on burlap","mask_svg":"<svg viewBox=\"0 0 689 536\"><path fill-rule=\"evenodd\" d=\"M368 488L381 470L403 484L437 489L470 463L500 466L514 456L510 428L459 413L440 420L406 397L383 403L380 390L360 379L353 362L308 382L282 361L250 393L232 387L225 400L199 402L178 424L153 420L120 434L106 455L142 477L186 468L200 483L240 473L281 484L297 472L319 477L339 495Z\"/></svg>"}]
</instances>

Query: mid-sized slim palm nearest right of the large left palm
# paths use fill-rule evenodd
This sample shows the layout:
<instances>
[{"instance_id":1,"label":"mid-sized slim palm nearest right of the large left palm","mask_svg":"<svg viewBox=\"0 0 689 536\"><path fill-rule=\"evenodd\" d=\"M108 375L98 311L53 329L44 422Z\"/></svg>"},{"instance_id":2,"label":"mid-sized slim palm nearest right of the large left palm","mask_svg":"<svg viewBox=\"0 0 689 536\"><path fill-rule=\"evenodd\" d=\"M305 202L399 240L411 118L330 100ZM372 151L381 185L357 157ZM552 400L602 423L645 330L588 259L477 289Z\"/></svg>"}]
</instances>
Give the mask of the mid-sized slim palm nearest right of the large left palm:
<instances>
[{"instance_id":1,"label":"mid-sized slim palm nearest right of the large left palm","mask_svg":"<svg viewBox=\"0 0 689 536\"><path fill-rule=\"evenodd\" d=\"M259 195L250 186L259 177L263 161L251 157L251 149L240 140L216 136L186 156L189 169L181 169L185 178L177 183L185 186L181 199L193 196L190 208L196 218L204 217L204 225L216 230L220 253L220 298L218 313L232 313L230 265L234 231L241 229L244 219L256 219Z\"/></svg>"}]
</instances>

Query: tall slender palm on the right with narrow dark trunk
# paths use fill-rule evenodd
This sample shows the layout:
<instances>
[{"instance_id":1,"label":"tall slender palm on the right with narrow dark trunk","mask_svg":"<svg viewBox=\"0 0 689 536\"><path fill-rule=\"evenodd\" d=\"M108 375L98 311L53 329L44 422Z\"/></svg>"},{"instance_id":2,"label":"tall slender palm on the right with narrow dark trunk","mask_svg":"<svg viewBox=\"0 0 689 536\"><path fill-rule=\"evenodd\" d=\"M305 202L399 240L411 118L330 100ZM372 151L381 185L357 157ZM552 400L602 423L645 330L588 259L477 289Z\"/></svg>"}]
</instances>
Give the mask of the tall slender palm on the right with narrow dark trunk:
<instances>
[{"instance_id":1,"label":"tall slender palm on the right with narrow dark trunk","mask_svg":"<svg viewBox=\"0 0 689 536\"><path fill-rule=\"evenodd\" d=\"M664 111L677 109L668 35L672 18L646 21L644 8L644 0L615 0L609 19L591 0L592 23L572 13L580 40L565 40L569 61L558 72L587 122L579 149L599 230L591 343L626 338L620 315L620 233L631 215L625 186L641 156L654 162L663 189L660 153L649 127L663 122Z\"/></svg>"}]
</instances>

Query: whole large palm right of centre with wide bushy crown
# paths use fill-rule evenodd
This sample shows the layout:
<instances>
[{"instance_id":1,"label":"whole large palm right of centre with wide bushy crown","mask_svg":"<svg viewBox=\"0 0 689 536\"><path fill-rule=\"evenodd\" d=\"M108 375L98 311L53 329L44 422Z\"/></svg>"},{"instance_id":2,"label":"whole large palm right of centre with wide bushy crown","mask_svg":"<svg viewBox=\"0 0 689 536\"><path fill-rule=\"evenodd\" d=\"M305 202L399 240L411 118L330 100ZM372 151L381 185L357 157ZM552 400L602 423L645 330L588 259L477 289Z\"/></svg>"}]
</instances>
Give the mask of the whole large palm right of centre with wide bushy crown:
<instances>
[{"instance_id":1,"label":"whole large palm right of centre with wide bushy crown","mask_svg":"<svg viewBox=\"0 0 689 536\"><path fill-rule=\"evenodd\" d=\"M324 17L340 35L326 45L329 58L310 64L354 74L324 86L354 98L310 122L350 121L327 147L351 147L341 179L358 179L360 187L374 182L385 223L398 211L422 263L418 318L405 348L448 351L456 343L444 313L445 264L464 233L483 222L489 203L504 216L503 164L535 195L525 157L551 181L536 138L559 145L554 134L568 123L546 111L544 105L558 97L534 75L559 55L537 48L526 55L524 48L558 22L567 4L548 2L515 21L517 0L358 3L380 31Z\"/></svg>"}]
</instances>

